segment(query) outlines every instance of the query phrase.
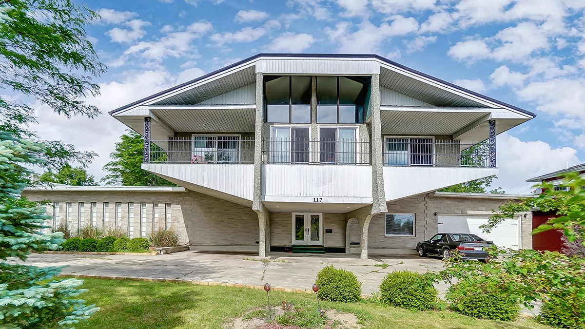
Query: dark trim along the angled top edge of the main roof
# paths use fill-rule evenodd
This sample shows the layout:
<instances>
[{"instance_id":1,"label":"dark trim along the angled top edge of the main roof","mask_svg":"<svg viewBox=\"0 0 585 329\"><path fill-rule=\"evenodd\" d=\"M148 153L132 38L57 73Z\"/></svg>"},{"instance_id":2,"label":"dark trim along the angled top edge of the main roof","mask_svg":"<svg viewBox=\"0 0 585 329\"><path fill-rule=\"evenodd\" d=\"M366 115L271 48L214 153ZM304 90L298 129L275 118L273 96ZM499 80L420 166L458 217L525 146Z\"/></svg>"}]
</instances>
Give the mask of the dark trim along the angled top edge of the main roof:
<instances>
[{"instance_id":1,"label":"dark trim along the angled top edge of the main roof","mask_svg":"<svg viewBox=\"0 0 585 329\"><path fill-rule=\"evenodd\" d=\"M384 58L384 57L382 57L380 55L377 55L377 54L290 54L290 53L284 53L284 54L282 54L282 53L260 53L260 54L256 54L256 55L254 55L252 57L248 57L247 59L243 59L243 60L240 60L240 61L238 61L236 63L230 64L230 65L228 65L226 67L220 68L219 70L215 70L215 71L213 71L211 73L205 74L204 76L195 78L195 79L190 80L190 81L187 81L185 83L182 83L182 84L176 85L174 87L168 88L166 90L157 92L154 95L150 95L148 97L142 98L142 100L137 100L137 101L132 102L130 104L124 105L123 107L116 108L116 109L114 109L112 111L109 111L108 113L110 115L113 115L116 112L121 111L122 109L125 109L125 108L128 108L128 107L132 107L134 105L140 104L141 102L150 100L151 98L159 97L160 95L164 95L167 92L171 92L173 90L177 90L179 88L185 87L185 85L189 85L189 84L192 84L192 83L196 83L197 81L200 81L200 80L203 80L205 78L214 76L215 74L218 74L218 73L221 73L223 71L229 70L230 68L233 68L233 67L236 67L236 66L240 66L240 65L242 65L242 64L244 64L246 62L253 61L253 60L258 59L260 57L306 57L306 58L318 58L318 57L333 57L333 58L336 58L336 57L338 57L338 58L356 58L356 59L374 58L374 59L383 61L384 63L390 64L392 66L396 66L396 67L402 68L403 70L409 71L411 73L418 74L419 76L422 76L422 77L429 78L431 80L437 81L438 83L446 84L449 87L455 88L457 90L460 90L460 91L463 91L463 92L467 92L469 94L472 94L472 95L477 96L477 97L480 97L480 98L484 98L484 99L486 99L488 101L495 102L495 103L500 104L500 105L502 105L504 107L508 107L508 108L515 109L516 111L519 111L519 112L522 112L524 114L527 114L527 115L532 116L532 118L534 118L536 116L536 114L534 114L532 112L529 112L529 111L526 111L525 109L521 109L519 107L515 107L514 105L510 105L510 104L507 104L505 102L501 102L501 101L495 100L494 98L487 97L486 95L479 94L478 92L471 91L469 89L460 87L459 85L455 85L455 84L449 83L448 81L441 80L441 79L436 78L436 77L433 77L433 76L429 76L429 74L422 73L421 71L414 70L414 68L410 68L410 67L404 66L402 64L398 64L395 61L386 59L386 58Z\"/></svg>"}]
</instances>

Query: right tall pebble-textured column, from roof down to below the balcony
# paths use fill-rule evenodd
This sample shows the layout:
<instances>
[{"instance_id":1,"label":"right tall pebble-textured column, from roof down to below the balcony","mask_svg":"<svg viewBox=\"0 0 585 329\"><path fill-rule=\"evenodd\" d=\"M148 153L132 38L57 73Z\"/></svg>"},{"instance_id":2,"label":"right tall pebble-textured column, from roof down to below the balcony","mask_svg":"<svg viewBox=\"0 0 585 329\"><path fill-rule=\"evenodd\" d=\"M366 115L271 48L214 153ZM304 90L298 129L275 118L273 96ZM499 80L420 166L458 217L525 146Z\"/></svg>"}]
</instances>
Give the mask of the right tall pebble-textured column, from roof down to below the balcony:
<instances>
[{"instance_id":1,"label":"right tall pebble-textured column, from roof down to below the balcony","mask_svg":"<svg viewBox=\"0 0 585 329\"><path fill-rule=\"evenodd\" d=\"M372 209L370 214L386 213L386 194L384 193L384 152L382 149L382 128L380 124L380 74L371 76L371 193ZM369 225L369 223L368 223ZM367 237L366 237L367 239ZM367 257L367 251L366 251Z\"/></svg>"}]
</instances>

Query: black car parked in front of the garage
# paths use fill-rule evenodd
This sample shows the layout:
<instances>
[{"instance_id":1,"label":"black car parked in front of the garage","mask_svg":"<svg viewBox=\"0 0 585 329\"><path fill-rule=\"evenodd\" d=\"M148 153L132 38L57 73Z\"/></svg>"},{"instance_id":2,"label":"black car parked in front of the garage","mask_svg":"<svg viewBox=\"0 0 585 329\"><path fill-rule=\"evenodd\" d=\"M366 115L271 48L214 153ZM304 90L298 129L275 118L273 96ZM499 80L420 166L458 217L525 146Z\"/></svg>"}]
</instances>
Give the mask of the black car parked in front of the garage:
<instances>
[{"instance_id":1,"label":"black car parked in front of the garage","mask_svg":"<svg viewBox=\"0 0 585 329\"><path fill-rule=\"evenodd\" d=\"M485 262L489 258L486 247L493 242L486 241L471 233L438 233L427 241L417 244L418 255L438 255L449 258L453 250L457 250L463 259L477 259Z\"/></svg>"}]
</instances>

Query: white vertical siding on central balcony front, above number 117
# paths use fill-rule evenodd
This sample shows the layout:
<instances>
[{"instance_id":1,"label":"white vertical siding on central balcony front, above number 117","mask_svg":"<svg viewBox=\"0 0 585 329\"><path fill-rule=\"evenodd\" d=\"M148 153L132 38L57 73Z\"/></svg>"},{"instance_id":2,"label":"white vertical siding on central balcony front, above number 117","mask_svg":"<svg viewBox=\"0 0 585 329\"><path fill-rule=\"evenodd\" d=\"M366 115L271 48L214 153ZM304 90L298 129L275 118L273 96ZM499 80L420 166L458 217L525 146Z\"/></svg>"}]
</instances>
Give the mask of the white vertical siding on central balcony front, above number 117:
<instances>
[{"instance_id":1,"label":"white vertical siding on central balcony front, above number 117","mask_svg":"<svg viewBox=\"0 0 585 329\"><path fill-rule=\"evenodd\" d=\"M265 196L371 198L371 166L264 165Z\"/></svg>"}]
</instances>

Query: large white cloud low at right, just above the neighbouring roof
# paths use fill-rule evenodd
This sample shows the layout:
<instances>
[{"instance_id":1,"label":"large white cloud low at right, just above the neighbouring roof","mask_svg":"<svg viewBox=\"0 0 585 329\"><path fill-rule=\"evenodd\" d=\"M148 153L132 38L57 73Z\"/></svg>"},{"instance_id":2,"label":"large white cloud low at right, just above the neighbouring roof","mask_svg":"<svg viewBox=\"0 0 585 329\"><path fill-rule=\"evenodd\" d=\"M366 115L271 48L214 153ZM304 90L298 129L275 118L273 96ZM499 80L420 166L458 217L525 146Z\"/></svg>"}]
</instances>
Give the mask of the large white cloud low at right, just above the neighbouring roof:
<instances>
[{"instance_id":1,"label":"large white cloud low at right, just above the neighbouring roof","mask_svg":"<svg viewBox=\"0 0 585 329\"><path fill-rule=\"evenodd\" d=\"M492 187L501 186L507 193L528 193L532 183L526 183L526 179L563 169L566 163L569 166L581 163L576 149L553 148L542 140L523 142L508 133L501 133L496 143L500 174Z\"/></svg>"}]
</instances>

